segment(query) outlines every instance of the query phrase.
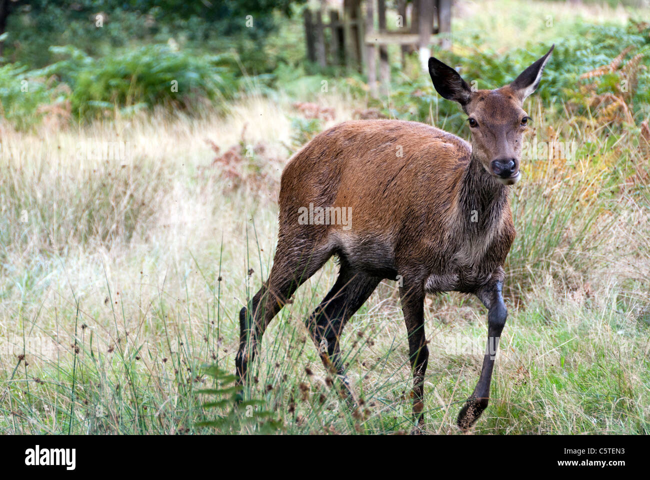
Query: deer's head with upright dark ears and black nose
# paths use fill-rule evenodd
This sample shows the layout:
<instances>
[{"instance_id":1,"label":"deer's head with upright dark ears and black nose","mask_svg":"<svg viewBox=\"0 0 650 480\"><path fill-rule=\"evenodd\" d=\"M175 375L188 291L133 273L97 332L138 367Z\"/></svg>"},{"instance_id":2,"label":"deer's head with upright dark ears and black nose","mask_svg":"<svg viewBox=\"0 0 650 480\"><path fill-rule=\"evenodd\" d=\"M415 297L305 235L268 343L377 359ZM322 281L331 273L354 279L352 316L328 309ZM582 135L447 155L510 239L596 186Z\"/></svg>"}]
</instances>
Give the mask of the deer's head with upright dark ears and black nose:
<instances>
[{"instance_id":1,"label":"deer's head with upright dark ears and black nose","mask_svg":"<svg viewBox=\"0 0 650 480\"><path fill-rule=\"evenodd\" d=\"M447 100L458 101L467 113L473 156L504 185L521 177L521 144L529 120L523 101L538 87L553 48L497 90L473 91L456 70L434 57L429 59L435 90Z\"/></svg>"}]
</instances>

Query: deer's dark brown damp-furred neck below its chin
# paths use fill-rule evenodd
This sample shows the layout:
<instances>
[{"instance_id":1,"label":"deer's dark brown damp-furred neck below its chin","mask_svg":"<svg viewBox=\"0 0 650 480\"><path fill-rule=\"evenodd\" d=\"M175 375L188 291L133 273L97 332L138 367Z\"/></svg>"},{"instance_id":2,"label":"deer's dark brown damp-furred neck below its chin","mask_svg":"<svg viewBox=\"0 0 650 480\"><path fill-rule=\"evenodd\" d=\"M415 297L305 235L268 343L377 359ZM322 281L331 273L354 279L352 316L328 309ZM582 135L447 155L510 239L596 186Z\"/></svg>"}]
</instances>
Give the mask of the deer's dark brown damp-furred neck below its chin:
<instances>
[{"instance_id":1,"label":"deer's dark brown damp-furred neck below its chin","mask_svg":"<svg viewBox=\"0 0 650 480\"><path fill-rule=\"evenodd\" d=\"M486 172L481 161L472 154L458 189L459 224L463 233L495 233L508 205L509 193L510 187Z\"/></svg>"}]
</instances>

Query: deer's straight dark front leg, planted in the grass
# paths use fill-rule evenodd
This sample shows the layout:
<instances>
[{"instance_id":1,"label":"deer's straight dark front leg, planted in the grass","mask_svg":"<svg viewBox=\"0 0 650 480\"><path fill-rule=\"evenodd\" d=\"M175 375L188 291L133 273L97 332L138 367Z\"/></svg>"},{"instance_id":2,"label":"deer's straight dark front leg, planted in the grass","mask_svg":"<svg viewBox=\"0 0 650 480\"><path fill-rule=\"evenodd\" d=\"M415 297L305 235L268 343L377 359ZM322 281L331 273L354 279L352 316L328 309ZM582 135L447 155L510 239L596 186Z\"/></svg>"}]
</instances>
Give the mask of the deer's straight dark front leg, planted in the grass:
<instances>
[{"instance_id":1,"label":"deer's straight dark front leg, planted in the grass","mask_svg":"<svg viewBox=\"0 0 650 480\"><path fill-rule=\"evenodd\" d=\"M429 349L424 336L424 290L422 284L400 288L402 312L408 334L409 360L413 370L413 420L416 425L424 421L424 372L428 364Z\"/></svg>"}]
</instances>

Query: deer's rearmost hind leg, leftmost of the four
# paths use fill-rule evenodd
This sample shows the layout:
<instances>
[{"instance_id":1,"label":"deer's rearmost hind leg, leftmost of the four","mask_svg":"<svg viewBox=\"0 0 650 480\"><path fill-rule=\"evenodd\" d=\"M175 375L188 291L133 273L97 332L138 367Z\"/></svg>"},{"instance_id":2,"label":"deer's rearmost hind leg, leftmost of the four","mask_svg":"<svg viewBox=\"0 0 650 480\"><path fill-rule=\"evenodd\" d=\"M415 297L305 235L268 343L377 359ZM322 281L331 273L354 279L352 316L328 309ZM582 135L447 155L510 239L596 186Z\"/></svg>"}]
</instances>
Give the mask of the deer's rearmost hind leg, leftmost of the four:
<instances>
[{"instance_id":1,"label":"deer's rearmost hind leg, leftmost of the four","mask_svg":"<svg viewBox=\"0 0 650 480\"><path fill-rule=\"evenodd\" d=\"M315 250L309 256L295 258L294 252L278 245L268 280L248 302L248 308L244 307L239 312L239 351L235 356L237 384L243 384L246 380L248 364L254 360L257 343L261 341L268 324L296 289L316 273L330 256L330 251Z\"/></svg>"}]
</instances>

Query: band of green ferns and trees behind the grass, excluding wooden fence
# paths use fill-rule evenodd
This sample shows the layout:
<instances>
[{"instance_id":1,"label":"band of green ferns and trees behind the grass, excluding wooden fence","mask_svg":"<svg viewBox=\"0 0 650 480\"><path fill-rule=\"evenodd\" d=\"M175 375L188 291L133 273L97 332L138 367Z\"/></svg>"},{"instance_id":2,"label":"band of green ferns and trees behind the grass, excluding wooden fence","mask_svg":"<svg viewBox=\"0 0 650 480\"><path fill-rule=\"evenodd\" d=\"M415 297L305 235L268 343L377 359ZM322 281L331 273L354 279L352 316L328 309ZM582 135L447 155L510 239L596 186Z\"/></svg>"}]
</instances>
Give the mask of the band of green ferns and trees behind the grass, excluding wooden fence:
<instances>
[{"instance_id":1,"label":"band of green ferns and trees behind the grass, excluding wooden fence","mask_svg":"<svg viewBox=\"0 0 650 480\"><path fill-rule=\"evenodd\" d=\"M307 7L305 0L2 0L4 117L25 128L47 114L67 114L77 122L157 105L200 114L206 106L224 111L227 101L251 88L268 93L280 87L309 100L306 94L313 97L323 78L334 88L365 98L368 85L363 75L344 67L318 68L305 60L301 13ZM506 2L500 8L518 5ZM454 19L453 49L434 48L434 53L448 64L461 65L463 75L476 79L478 88L495 88L555 42L547 81L539 91L545 105L562 109L558 102L562 98L573 114L585 116L599 95L625 93L630 114L637 119L648 116L650 24L642 14L636 18L632 14L627 25L593 25L558 15L550 20L552 28L544 28L548 12L539 11L538 16L526 12L516 19L519 32L530 31L534 39L517 35L495 42L504 40L493 38L499 25L464 23L460 15ZM252 16L253 27L246 27L246 16ZM493 47L497 43L500 49ZM447 118L448 128L460 130L460 112L449 102L438 101L415 59L405 68L398 55L389 53L393 53L390 101L370 100L369 107L379 108L385 116L414 120L426 120L434 109ZM580 79L621 53L616 68L603 72L596 83ZM619 68L630 59L634 59L630 71ZM629 91L617 91L627 77ZM29 81L29 95L22 91L22 80ZM170 88L172 80L177 81L177 91Z\"/></svg>"}]
</instances>

